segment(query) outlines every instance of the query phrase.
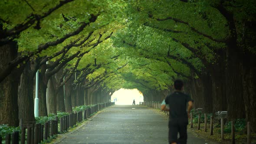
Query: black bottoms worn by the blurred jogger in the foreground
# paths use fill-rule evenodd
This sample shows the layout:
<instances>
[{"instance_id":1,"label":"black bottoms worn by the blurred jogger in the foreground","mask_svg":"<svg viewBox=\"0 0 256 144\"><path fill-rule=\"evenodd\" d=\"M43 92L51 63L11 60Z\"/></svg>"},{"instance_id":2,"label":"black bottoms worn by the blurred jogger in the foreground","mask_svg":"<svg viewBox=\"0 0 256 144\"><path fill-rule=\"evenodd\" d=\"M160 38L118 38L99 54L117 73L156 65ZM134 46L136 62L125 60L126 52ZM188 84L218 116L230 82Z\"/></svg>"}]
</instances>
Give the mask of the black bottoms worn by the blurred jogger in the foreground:
<instances>
[{"instance_id":1,"label":"black bottoms worn by the blurred jogger in the foreground","mask_svg":"<svg viewBox=\"0 0 256 144\"><path fill-rule=\"evenodd\" d=\"M187 121L169 121L169 143L187 144ZM177 134L180 137L177 139Z\"/></svg>"}]
</instances>

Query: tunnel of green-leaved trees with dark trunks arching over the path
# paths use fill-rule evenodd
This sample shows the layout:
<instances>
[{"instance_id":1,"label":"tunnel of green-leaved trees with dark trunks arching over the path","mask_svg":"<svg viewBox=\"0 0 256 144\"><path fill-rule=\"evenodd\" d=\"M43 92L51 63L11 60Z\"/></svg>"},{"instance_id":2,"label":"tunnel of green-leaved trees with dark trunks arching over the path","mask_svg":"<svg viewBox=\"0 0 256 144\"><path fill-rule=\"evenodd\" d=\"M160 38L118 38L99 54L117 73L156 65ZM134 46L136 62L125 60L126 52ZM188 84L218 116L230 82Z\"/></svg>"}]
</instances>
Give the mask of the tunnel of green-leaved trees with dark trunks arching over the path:
<instances>
[{"instance_id":1,"label":"tunnel of green-leaved trees with dark trunks arching over the path","mask_svg":"<svg viewBox=\"0 0 256 144\"><path fill-rule=\"evenodd\" d=\"M0 124L35 121L38 71L40 116L121 88L161 101L182 79L195 108L256 128L254 1L1 0Z\"/></svg>"}]
</instances>

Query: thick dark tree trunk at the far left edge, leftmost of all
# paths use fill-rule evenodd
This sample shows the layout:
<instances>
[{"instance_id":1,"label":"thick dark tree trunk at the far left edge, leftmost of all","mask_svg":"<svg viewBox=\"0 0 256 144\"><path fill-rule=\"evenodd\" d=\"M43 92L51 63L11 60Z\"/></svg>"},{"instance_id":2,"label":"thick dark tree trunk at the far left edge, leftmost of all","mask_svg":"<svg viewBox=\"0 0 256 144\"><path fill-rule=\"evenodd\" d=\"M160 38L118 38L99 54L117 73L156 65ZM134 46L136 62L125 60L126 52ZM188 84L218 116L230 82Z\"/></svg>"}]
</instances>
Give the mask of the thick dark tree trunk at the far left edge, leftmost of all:
<instances>
[{"instance_id":1,"label":"thick dark tree trunk at the far left edge, leftmost of all","mask_svg":"<svg viewBox=\"0 0 256 144\"><path fill-rule=\"evenodd\" d=\"M18 55L16 43L0 46L0 71ZM0 82L0 124L18 126L18 85L21 73L14 69ZM22 71L22 70L20 70Z\"/></svg>"}]
</instances>

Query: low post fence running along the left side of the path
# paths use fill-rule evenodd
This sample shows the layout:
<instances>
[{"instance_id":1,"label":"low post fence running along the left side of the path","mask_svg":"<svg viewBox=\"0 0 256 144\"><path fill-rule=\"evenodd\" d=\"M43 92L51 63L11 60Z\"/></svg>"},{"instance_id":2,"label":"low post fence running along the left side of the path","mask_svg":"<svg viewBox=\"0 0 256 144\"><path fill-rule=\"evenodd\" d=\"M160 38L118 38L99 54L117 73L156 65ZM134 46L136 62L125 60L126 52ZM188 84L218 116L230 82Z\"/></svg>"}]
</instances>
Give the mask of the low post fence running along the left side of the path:
<instances>
[{"instance_id":1,"label":"low post fence running along the left side of the path","mask_svg":"<svg viewBox=\"0 0 256 144\"><path fill-rule=\"evenodd\" d=\"M56 134L67 132L82 120L89 118L96 111L111 105L115 105L115 102L97 104L84 111L74 111L60 118L56 116L54 120L46 121L44 124L20 120L20 131L6 134L5 137L0 136L0 144L3 144L3 141L5 144L39 144L47 141L50 137L54 137Z\"/></svg>"}]
</instances>

